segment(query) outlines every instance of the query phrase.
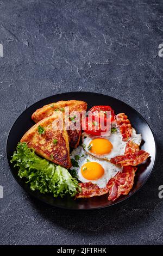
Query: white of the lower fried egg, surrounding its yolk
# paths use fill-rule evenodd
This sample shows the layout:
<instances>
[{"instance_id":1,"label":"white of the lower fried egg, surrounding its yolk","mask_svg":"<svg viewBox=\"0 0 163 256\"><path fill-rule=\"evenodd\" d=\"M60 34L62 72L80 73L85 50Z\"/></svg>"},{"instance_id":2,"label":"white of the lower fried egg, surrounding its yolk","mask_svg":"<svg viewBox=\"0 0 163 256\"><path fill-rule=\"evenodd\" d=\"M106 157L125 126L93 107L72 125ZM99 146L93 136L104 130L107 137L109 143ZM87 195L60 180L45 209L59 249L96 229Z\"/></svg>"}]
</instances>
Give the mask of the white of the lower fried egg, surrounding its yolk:
<instances>
[{"instance_id":1,"label":"white of the lower fried egg, surrounding its yolk","mask_svg":"<svg viewBox=\"0 0 163 256\"><path fill-rule=\"evenodd\" d=\"M83 147L79 146L78 148L74 149L72 153L70 154L70 158L76 160L76 155L78 155L80 158L77 160L79 167L71 167L70 169L75 169L77 172L77 178L81 182L89 182L91 181L93 184L97 184L99 188L103 188L106 186L108 181L113 178L118 172L122 171L122 167L116 166L115 164L112 164L108 161L97 159L96 157L93 157L91 155L88 155L86 151L84 151ZM87 180L83 177L81 173L81 168L83 164L87 163L87 161L90 162L97 162L101 164L101 166L104 169L104 175L99 178L98 180Z\"/></svg>"}]
</instances>

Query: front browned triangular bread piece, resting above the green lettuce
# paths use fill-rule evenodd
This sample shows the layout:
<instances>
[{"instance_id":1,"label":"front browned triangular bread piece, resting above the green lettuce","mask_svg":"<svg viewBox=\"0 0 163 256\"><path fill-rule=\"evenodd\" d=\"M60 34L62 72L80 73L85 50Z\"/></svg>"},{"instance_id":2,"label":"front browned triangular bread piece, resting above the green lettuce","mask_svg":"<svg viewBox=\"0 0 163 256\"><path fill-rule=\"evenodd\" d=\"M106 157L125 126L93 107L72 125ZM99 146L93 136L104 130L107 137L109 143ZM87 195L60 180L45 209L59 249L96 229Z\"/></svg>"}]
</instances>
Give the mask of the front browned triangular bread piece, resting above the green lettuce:
<instances>
[{"instance_id":1,"label":"front browned triangular bread piece, resting above the green lettuce","mask_svg":"<svg viewBox=\"0 0 163 256\"><path fill-rule=\"evenodd\" d=\"M26 142L29 148L34 148L36 154L45 157L47 160L59 164L65 168L71 167L70 149L66 130L54 130L52 123L58 114L53 114L30 128L22 137L21 142ZM45 129L44 134L38 132L39 125ZM54 144L57 139L57 144Z\"/></svg>"}]
</instances>

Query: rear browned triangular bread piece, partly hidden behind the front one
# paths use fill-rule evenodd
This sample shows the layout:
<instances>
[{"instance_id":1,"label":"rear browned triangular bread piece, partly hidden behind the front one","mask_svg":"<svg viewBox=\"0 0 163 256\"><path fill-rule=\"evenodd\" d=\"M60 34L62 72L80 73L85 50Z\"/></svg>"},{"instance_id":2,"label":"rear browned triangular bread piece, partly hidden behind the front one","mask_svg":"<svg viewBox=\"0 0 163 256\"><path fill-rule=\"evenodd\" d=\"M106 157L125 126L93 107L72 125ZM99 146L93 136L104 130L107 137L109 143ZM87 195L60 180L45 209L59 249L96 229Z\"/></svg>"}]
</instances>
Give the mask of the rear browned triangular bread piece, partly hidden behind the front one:
<instances>
[{"instance_id":1,"label":"rear browned triangular bread piece, partly hidden behind the front one","mask_svg":"<svg viewBox=\"0 0 163 256\"><path fill-rule=\"evenodd\" d=\"M43 106L42 108L37 109L32 114L32 119L35 123L42 120L45 117L49 117L53 113L57 111L64 112L65 107L69 107L70 114L73 111L78 111L82 113L82 111L86 111L87 103L80 100L68 100L68 101L58 101L48 105ZM68 140L70 143L70 147L77 148L80 141L81 136L81 127L80 130L67 130Z\"/></svg>"}]
</instances>

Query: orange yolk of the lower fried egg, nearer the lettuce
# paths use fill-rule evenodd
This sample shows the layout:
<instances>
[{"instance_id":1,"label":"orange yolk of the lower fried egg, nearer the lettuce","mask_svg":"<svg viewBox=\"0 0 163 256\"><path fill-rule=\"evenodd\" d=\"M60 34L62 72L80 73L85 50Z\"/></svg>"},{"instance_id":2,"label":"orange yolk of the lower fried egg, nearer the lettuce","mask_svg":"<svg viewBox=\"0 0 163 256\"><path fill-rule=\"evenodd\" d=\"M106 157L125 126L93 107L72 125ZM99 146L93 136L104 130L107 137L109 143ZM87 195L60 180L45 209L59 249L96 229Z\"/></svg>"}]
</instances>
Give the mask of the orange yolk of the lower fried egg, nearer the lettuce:
<instances>
[{"instance_id":1,"label":"orange yolk of the lower fried egg, nearer the lettuce","mask_svg":"<svg viewBox=\"0 0 163 256\"><path fill-rule=\"evenodd\" d=\"M97 162L87 162L81 168L82 175L87 180L98 180L103 176L104 169Z\"/></svg>"}]
</instances>

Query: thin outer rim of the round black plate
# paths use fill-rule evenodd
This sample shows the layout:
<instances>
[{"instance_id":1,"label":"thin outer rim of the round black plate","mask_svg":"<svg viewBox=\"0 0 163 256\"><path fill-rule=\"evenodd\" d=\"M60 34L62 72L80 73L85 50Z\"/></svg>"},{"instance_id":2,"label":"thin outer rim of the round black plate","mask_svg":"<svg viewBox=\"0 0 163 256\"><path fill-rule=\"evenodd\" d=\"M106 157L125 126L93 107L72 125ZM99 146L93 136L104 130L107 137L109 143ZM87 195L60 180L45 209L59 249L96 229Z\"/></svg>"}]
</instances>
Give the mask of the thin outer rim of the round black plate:
<instances>
[{"instance_id":1,"label":"thin outer rim of the round black plate","mask_svg":"<svg viewBox=\"0 0 163 256\"><path fill-rule=\"evenodd\" d=\"M50 98L53 97L53 96L61 96L61 95L64 95L64 94L74 94L74 93L79 93L79 94L84 94L84 93L86 93L86 94L95 94L95 95L98 94L98 95L102 95L102 96L109 96L112 100L120 101L120 102L122 102L124 105L129 106L131 109L133 109L133 110L136 112L136 114L138 114L139 117L142 118L143 121L145 121L145 123L146 123L146 125L148 126L149 130L151 130L151 132L152 132L152 136L153 136L154 144L155 144L155 159L154 159L154 162L153 162L153 166L152 166L152 168L151 168L151 172L148 174L147 179L142 182L141 186L140 186L139 188L137 188L136 191L134 191L134 192L133 192L132 194L130 194L130 195L128 194L128 196L127 196L126 198L122 198L122 199L119 200L118 202L114 202L114 204L99 206L99 207L96 207L96 208L88 208L88 209L84 209L84 208L82 208L82 209L72 208L72 209L71 209L71 208L67 208L67 207L65 207L65 206L61 206L61 205L55 205L55 206L54 206L53 204L49 204L49 203L45 202L43 199L38 198L35 194L32 193L32 191L31 191L31 192L30 192L30 191L27 191L27 189L24 188L24 187L17 181L16 175L14 175L14 173L12 173L12 170L11 170L11 168L10 168L9 161L8 161L8 155L7 155L8 139L9 139L10 132L11 132L11 130L12 130L12 127L15 125L16 121L23 115L24 112L27 111L28 108L33 107L36 103L39 103L39 102L41 102L42 100L50 99ZM85 92L85 91L82 91L82 92L73 91L73 92L64 92L64 93L58 93L58 94L54 94L54 95L51 95L51 96L43 97L41 100L36 101L36 102L33 103L32 105L30 105L28 108L24 109L24 111L15 119L14 123L13 123L13 124L11 125L11 127L10 127L10 130L9 130L8 136L7 136L7 140L6 140L6 143L5 143L5 156L6 156L6 159L7 159L7 163L8 163L8 167L9 167L9 169L10 169L10 172L11 172L12 176L14 177L14 179L16 180L17 184L20 185L20 186L23 188L24 191L26 191L27 193L29 193L30 196L32 196L33 198L36 198L38 201L41 201L41 202L43 202L43 203L45 203L45 204L47 204L47 205L51 205L51 206L56 207L56 208L59 208L59 209L66 209L66 210L71 210L71 211L80 211L80 210L82 210L82 211L89 211L89 210L98 210L98 209L108 208L109 206L114 206L114 205L116 205L116 204L118 204L118 203L123 202L124 200L129 199L129 198L130 198L131 196L133 196L136 192L140 191L140 189L146 184L146 182L148 181L148 179L149 179L150 176L152 175L152 172L153 172L154 167L155 167L155 164L156 164L157 155L158 155L158 149L157 149L157 143L156 143L155 135L154 135L154 133L153 133L151 127L149 126L148 122L146 121L146 119L145 119L134 107L131 107L131 106L128 105L126 102L124 102L124 101L122 101L122 100L119 100L119 99L117 99L116 97L113 97L113 96L110 96L110 95L106 95L106 94L102 94L102 93ZM40 192L40 193L41 193L41 192Z\"/></svg>"}]
</instances>

